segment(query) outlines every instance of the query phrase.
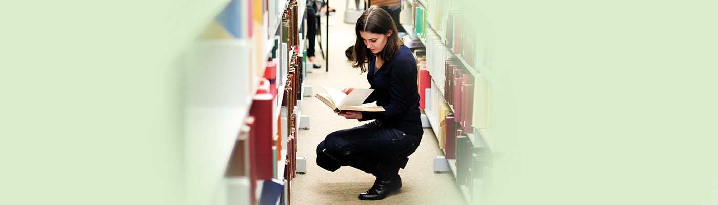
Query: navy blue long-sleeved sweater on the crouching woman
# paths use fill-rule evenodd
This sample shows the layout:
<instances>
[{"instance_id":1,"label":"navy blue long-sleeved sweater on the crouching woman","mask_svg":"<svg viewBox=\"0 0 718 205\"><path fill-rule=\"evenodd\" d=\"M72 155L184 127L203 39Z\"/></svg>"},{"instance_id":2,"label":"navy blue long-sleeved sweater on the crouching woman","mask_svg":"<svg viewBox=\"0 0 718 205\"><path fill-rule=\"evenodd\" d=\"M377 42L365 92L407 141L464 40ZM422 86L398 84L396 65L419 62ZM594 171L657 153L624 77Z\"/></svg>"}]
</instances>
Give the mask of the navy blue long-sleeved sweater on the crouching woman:
<instances>
[{"instance_id":1,"label":"navy blue long-sleeved sweater on the crouching woman","mask_svg":"<svg viewBox=\"0 0 718 205\"><path fill-rule=\"evenodd\" d=\"M375 73L376 72L376 73ZM419 87L416 85L416 59L409 47L401 45L401 50L390 62L384 62L376 68L376 55L369 62L367 79L374 92L364 103L376 101L383 106L384 112L362 112L362 119L378 120L406 134L421 138L421 111L419 110Z\"/></svg>"}]
</instances>

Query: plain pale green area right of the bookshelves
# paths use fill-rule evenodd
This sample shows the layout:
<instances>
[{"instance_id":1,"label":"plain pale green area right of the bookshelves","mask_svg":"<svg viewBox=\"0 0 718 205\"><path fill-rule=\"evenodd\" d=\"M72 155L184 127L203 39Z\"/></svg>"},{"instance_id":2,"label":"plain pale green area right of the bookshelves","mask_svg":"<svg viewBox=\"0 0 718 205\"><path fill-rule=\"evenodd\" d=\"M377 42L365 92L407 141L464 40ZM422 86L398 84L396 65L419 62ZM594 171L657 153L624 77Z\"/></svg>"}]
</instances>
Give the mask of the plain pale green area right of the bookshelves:
<instances>
[{"instance_id":1,"label":"plain pale green area right of the bookshelves","mask_svg":"<svg viewBox=\"0 0 718 205\"><path fill-rule=\"evenodd\" d=\"M466 3L494 37L491 201L718 203L709 2Z\"/></svg>"}]
</instances>

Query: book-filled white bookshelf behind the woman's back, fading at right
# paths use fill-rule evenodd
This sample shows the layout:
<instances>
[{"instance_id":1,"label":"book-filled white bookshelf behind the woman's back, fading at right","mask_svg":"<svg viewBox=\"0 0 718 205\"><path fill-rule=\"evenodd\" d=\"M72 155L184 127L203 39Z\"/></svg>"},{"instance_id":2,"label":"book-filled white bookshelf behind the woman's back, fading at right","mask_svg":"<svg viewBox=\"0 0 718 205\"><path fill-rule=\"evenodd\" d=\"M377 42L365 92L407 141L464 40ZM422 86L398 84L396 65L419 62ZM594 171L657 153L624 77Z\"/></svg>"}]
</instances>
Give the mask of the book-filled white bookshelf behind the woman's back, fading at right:
<instances>
[{"instance_id":1,"label":"book-filled white bookshelf behind the woman's back, fading at right","mask_svg":"<svg viewBox=\"0 0 718 205\"><path fill-rule=\"evenodd\" d=\"M490 67L490 47L485 44L484 30L475 28L474 22L462 22L464 19L475 21L475 11L460 8L460 1L414 0L413 7L406 6L405 14L414 19L406 19L401 25L409 37L416 37L424 44L425 56L417 60L420 70L426 67L431 75L431 95L424 113L428 118L439 146L454 174L454 177L471 181L467 185L458 185L466 201L481 204L484 192L490 191L493 169L493 153L498 151L493 128L493 87L496 82ZM482 24L479 24L482 25ZM451 72L451 73L449 73ZM454 76L455 75L455 76ZM421 80L419 80L421 87ZM460 87L459 87L460 86ZM458 88L457 88L458 87ZM428 93L427 93L428 95ZM459 100L459 101L457 101ZM447 102L449 101L449 102ZM442 133L449 129L444 116L451 111L457 131L463 135L457 143L447 144L452 135ZM446 128L444 128L446 126ZM449 146L453 146L449 149ZM458 149L462 149L461 155ZM452 154L449 154L449 150ZM455 155L452 159L449 156ZM467 168L468 176L457 176L457 159L467 162L461 165ZM471 163L469 163L471 162ZM463 168L462 168L463 170ZM478 174L478 175L472 175Z\"/></svg>"}]
</instances>

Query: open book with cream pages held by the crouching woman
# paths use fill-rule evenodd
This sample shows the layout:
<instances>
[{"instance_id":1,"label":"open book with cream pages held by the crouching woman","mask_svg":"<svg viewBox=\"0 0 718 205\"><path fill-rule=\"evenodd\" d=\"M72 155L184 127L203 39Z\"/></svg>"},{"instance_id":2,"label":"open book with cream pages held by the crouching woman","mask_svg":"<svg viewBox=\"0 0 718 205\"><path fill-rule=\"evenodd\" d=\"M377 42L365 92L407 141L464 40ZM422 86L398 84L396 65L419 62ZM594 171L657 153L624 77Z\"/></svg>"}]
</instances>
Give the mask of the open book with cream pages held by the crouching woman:
<instances>
[{"instance_id":1,"label":"open book with cream pages held by the crouching woman","mask_svg":"<svg viewBox=\"0 0 718 205\"><path fill-rule=\"evenodd\" d=\"M366 88L355 88L349 95L344 94L340 90L332 87L322 86L327 93L317 93L314 97L319 98L325 104L329 105L334 110L334 113L339 113L345 110L354 111L367 111L367 112L382 112L384 108L381 106L362 106L366 97L369 97L371 92L374 90Z\"/></svg>"}]
</instances>

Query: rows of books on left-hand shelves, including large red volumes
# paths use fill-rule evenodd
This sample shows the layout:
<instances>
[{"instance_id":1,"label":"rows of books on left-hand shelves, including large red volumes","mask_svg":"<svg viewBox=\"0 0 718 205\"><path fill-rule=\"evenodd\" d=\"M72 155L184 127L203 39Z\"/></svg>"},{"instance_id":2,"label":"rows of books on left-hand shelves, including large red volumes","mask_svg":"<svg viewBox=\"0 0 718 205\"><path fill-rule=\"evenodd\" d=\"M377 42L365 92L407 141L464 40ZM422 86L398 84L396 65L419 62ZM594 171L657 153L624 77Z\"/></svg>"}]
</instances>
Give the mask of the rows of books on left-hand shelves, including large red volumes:
<instances>
[{"instance_id":1,"label":"rows of books on left-hand shelves, including large red volumes","mask_svg":"<svg viewBox=\"0 0 718 205\"><path fill-rule=\"evenodd\" d=\"M272 4L277 3L275 0L269 1L274 1ZM220 22L229 34L236 32L238 37L252 39L251 28L247 25L256 24L256 19L261 23L263 12L272 10L268 9L269 1L230 1L228 7L234 6L234 10L232 8L225 9L223 14L218 16L217 22ZM250 196L248 201L251 204L257 204L259 201L274 203L276 199L279 199L276 191L281 190L283 191L281 194L289 194L286 193L289 191L286 189L289 186L288 182L296 177L298 115L294 109L297 106L297 100L302 97L304 57L299 52L299 25L302 24L303 17L299 16L302 12L299 11L297 0L290 0L286 8L286 10L276 13L277 15L281 14L281 22L277 21L281 24L278 31L281 35L274 37L274 41L268 41L274 42L272 50L274 54L271 55L273 60L266 62L266 66L258 69L261 71L258 74L262 80L260 80L257 92L252 95L253 101L249 108L246 125L243 125L225 171L227 177L246 176L249 178L251 193L248 194ZM234 19L232 20L232 18ZM237 18L241 21L236 21ZM254 34L254 36L261 35ZM257 60L256 62L261 61ZM255 63L255 65L259 65L259 63ZM284 83L284 86L281 86L280 83ZM280 95L281 99L277 98ZM281 109L286 112L276 112L278 106L281 106ZM275 113L279 113L278 119L275 119L278 117ZM283 118L287 121L286 126L281 123ZM282 135L282 133L288 134ZM286 147L282 148L283 145ZM286 150L286 153L283 150ZM281 168L281 163L285 164L284 168ZM287 183L279 181L277 178L284 178ZM257 190L258 183L264 183L265 186L261 194ZM271 189L269 189L270 186ZM261 196L261 198L258 199L257 196ZM281 204L289 204L289 201L280 201Z\"/></svg>"}]
</instances>

